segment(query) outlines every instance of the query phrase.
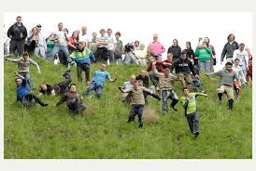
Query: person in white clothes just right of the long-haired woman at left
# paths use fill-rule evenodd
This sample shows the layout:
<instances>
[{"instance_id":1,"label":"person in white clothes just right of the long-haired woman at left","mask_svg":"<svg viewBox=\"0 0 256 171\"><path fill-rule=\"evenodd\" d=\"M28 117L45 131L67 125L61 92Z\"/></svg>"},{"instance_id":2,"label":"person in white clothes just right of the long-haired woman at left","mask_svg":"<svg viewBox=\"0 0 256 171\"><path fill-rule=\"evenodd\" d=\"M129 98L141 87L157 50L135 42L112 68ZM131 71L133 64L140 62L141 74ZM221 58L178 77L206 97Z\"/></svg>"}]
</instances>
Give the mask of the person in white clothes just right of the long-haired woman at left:
<instances>
[{"instance_id":1,"label":"person in white clothes just right of the long-haired woman at left","mask_svg":"<svg viewBox=\"0 0 256 171\"><path fill-rule=\"evenodd\" d=\"M35 48L34 54L37 56L41 56L42 58L46 59L46 52L47 52L47 45L46 45L46 39L41 33L41 24L36 25L37 28L37 34L38 34L38 42L37 46Z\"/></svg>"}]
</instances>

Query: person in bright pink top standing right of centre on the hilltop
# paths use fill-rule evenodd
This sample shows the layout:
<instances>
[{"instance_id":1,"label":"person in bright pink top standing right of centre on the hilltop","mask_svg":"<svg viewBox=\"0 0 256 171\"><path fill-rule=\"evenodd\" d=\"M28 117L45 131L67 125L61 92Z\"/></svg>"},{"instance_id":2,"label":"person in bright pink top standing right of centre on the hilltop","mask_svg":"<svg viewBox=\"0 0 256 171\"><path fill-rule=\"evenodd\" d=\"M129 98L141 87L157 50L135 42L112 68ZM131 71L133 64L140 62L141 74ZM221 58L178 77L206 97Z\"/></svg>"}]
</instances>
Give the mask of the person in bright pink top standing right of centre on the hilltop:
<instances>
[{"instance_id":1,"label":"person in bright pink top standing right of centre on the hilltop","mask_svg":"<svg viewBox=\"0 0 256 171\"><path fill-rule=\"evenodd\" d=\"M150 49L153 51L155 54L155 59L156 60L162 60L162 53L165 52L165 48L163 44L158 42L158 34L153 34L153 42L149 44Z\"/></svg>"}]
</instances>

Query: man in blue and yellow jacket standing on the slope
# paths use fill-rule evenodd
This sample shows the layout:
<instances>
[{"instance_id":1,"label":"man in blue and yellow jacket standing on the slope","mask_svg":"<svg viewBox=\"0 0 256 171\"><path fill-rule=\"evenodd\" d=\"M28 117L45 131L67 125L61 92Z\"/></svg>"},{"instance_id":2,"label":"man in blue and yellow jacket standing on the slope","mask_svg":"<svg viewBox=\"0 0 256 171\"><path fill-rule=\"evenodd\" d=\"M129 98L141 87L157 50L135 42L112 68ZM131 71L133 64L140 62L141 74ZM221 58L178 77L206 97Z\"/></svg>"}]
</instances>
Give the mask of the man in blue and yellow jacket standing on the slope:
<instances>
[{"instance_id":1,"label":"man in blue and yellow jacket standing on the slope","mask_svg":"<svg viewBox=\"0 0 256 171\"><path fill-rule=\"evenodd\" d=\"M91 60L95 61L92 51L84 46L83 42L78 43L78 49L75 50L70 57L68 57L68 62L77 63L77 74L78 82L82 82L81 73L85 72L86 82L90 83L90 64Z\"/></svg>"}]
</instances>

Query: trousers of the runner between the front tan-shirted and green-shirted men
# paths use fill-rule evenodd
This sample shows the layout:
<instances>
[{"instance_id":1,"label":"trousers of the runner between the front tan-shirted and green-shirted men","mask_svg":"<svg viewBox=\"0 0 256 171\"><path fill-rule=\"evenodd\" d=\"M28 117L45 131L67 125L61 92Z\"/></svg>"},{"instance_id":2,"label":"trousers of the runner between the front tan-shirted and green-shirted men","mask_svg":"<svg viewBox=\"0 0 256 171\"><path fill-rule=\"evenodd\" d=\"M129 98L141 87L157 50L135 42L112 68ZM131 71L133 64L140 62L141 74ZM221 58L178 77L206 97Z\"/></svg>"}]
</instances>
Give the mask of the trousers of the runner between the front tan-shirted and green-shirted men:
<instances>
[{"instance_id":1,"label":"trousers of the runner between the front tan-shirted and green-shirted men","mask_svg":"<svg viewBox=\"0 0 256 171\"><path fill-rule=\"evenodd\" d=\"M178 103L178 96L173 89L162 90L162 109L163 112L168 112L167 99L172 99L171 106L175 107Z\"/></svg>"}]
</instances>

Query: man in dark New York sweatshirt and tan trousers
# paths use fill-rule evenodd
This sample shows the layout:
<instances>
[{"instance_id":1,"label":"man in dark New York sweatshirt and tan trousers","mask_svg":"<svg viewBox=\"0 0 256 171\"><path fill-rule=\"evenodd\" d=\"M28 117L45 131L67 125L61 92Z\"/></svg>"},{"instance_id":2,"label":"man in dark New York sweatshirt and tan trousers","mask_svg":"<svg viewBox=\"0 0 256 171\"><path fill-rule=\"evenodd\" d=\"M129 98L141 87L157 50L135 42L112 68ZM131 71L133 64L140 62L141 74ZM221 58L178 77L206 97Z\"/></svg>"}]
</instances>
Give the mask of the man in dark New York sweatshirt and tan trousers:
<instances>
[{"instance_id":1,"label":"man in dark New York sweatshirt and tan trousers","mask_svg":"<svg viewBox=\"0 0 256 171\"><path fill-rule=\"evenodd\" d=\"M179 59L176 59L171 66L171 72L175 69L180 81L181 85L183 87L189 87L191 88L192 85L192 74L199 78L198 74L194 71L194 68L192 66L192 61L190 59L187 59L187 52L185 50L182 50L180 53Z\"/></svg>"}]
</instances>

